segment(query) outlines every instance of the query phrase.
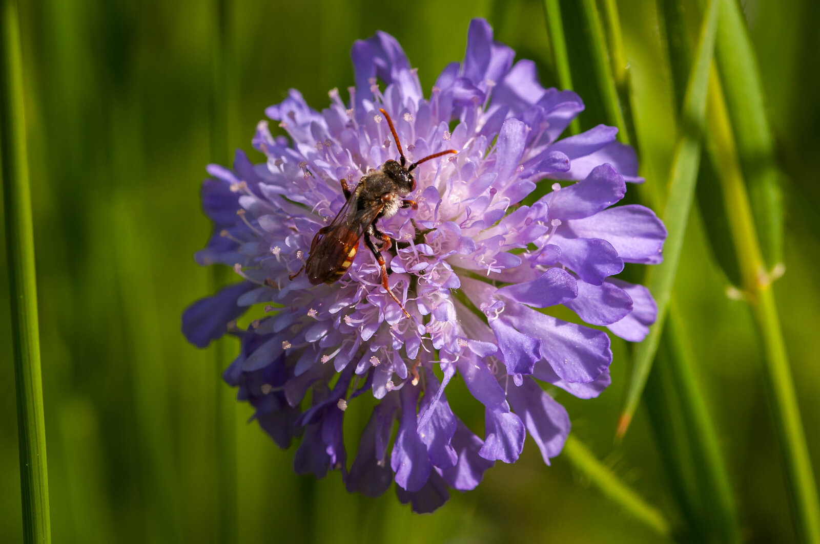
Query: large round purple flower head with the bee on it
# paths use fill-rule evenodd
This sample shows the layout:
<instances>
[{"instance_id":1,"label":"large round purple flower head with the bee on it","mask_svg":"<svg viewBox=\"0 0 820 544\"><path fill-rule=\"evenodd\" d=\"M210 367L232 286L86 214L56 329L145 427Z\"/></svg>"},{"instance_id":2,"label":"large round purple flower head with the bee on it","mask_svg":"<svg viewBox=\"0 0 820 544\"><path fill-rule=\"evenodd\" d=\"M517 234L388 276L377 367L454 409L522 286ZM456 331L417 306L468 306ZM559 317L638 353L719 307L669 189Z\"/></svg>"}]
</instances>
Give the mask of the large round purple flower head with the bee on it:
<instances>
[{"instance_id":1,"label":"large round purple flower head with the bee on it","mask_svg":"<svg viewBox=\"0 0 820 544\"><path fill-rule=\"evenodd\" d=\"M242 348L225 381L280 447L302 437L298 473L339 469L348 491L368 496L395 481L417 511L444 504L450 488L476 487L494 461L517 460L526 433L544 462L558 455L569 418L540 382L581 398L608 385L608 334L541 309L566 306L631 342L656 314L646 288L613 277L625 262L660 262L666 238L649 209L613 206L627 182L643 181L635 152L604 125L558 139L581 98L542 88L534 64L513 64L492 38L473 20L464 61L426 97L394 38L354 43L348 102L334 89L317 111L290 91L266 111L289 138L260 122L253 147L266 162L238 151L232 170L211 165L203 184L214 235L197 260L230 265L242 280L190 306L183 332L204 347L248 306L266 305L247 330L231 325ZM367 251L336 283L289 279L344 206L339 180L354 188L398 158L380 108L410 161L457 152L414 170L417 209L377 222L394 239L382 254L410 319ZM483 437L447 401L457 372L485 406ZM362 395L379 402L348 462L344 410Z\"/></svg>"}]
</instances>

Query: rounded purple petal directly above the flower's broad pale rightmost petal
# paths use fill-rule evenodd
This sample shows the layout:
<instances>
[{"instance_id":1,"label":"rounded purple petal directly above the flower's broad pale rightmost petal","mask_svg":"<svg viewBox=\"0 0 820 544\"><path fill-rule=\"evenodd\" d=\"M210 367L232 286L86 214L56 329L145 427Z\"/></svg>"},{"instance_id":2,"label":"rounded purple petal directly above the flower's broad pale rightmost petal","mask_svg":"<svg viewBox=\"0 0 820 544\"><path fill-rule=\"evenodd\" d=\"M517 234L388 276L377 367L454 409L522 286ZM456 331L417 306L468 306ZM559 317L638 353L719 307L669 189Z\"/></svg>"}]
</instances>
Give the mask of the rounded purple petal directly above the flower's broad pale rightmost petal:
<instances>
[{"instance_id":1,"label":"rounded purple petal directly above the flower's broad pale rightmost petal","mask_svg":"<svg viewBox=\"0 0 820 544\"><path fill-rule=\"evenodd\" d=\"M582 219L605 210L626 194L626 184L610 165L600 165L583 181L564 187L544 198L549 216L560 220Z\"/></svg>"}]
</instances>

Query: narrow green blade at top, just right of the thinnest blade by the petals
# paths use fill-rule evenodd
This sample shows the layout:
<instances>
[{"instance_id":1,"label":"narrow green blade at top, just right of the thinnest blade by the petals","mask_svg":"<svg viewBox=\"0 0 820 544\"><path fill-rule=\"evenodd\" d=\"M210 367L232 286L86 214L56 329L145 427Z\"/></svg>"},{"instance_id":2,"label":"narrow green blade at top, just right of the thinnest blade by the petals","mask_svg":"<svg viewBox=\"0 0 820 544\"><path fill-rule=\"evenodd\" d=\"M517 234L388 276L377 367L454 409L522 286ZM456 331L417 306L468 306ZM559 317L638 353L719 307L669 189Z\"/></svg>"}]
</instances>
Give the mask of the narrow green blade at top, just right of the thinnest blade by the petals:
<instances>
[{"instance_id":1,"label":"narrow green blade at top, just right of the thinnest blade by the petals","mask_svg":"<svg viewBox=\"0 0 820 544\"><path fill-rule=\"evenodd\" d=\"M617 126L618 140L622 143L631 143L635 140L632 137L634 133L631 126L626 125L626 119L631 119L631 116L624 115L624 109L629 107L629 103L622 103L618 97L616 79L613 75L612 64L609 61L609 52L605 42L606 33L595 0L581 0L581 13L587 27L586 37L590 42L592 65L599 93L604 101L607 122L609 125ZM617 12L614 13L614 16L617 18ZM621 51L621 48L618 48L618 51Z\"/></svg>"}]
</instances>

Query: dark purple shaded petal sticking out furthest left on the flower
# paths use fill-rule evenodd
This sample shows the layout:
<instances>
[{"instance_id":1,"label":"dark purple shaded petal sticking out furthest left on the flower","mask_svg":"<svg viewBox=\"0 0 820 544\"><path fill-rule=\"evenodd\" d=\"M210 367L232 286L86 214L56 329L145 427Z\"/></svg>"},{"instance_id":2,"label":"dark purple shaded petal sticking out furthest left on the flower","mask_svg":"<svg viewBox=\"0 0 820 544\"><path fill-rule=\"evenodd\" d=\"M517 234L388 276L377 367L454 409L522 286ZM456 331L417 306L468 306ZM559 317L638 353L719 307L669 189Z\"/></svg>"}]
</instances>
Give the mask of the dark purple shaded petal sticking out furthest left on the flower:
<instances>
[{"instance_id":1,"label":"dark purple shaded petal sticking out furthest left on the flower","mask_svg":"<svg viewBox=\"0 0 820 544\"><path fill-rule=\"evenodd\" d=\"M212 340L225 334L230 321L248 310L236 301L245 292L257 287L251 282L239 282L221 288L216 295L200 299L182 314L182 333L196 347L206 347Z\"/></svg>"}]
</instances>

